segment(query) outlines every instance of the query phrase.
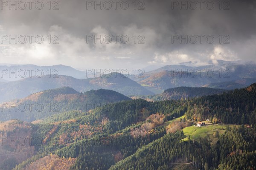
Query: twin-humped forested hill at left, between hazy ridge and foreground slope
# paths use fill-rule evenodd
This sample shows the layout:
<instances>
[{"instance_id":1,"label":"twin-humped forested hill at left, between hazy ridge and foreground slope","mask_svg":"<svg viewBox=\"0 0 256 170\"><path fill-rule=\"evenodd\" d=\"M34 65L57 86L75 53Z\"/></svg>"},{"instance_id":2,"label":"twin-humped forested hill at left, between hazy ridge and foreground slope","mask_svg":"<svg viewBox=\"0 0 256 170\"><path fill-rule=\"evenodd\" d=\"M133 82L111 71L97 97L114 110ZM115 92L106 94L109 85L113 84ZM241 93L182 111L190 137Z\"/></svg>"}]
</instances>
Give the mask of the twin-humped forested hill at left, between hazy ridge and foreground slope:
<instances>
[{"instance_id":1,"label":"twin-humped forested hill at left, between hazy ridge and foreground slope","mask_svg":"<svg viewBox=\"0 0 256 170\"><path fill-rule=\"evenodd\" d=\"M116 91L99 89L79 93L73 88L50 89L1 105L1 120L34 121L64 111L89 111L107 103L131 100Z\"/></svg>"}]
</instances>

